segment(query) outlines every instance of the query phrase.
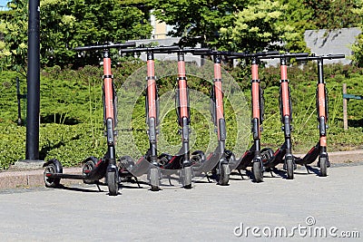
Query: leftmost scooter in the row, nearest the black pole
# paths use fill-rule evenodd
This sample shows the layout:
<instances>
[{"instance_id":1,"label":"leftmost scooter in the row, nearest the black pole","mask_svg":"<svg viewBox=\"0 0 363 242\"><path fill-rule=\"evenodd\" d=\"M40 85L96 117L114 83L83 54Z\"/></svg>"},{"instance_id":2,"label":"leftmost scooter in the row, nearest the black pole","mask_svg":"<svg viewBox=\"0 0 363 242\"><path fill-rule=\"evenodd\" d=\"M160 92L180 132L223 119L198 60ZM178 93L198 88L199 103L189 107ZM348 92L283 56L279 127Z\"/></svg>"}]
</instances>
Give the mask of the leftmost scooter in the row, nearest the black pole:
<instances>
[{"instance_id":1,"label":"leftmost scooter in the row, nearest the black pole","mask_svg":"<svg viewBox=\"0 0 363 242\"><path fill-rule=\"evenodd\" d=\"M107 139L107 152L100 160L89 157L83 160L83 174L65 174L59 160L49 160L44 164L44 182L48 188L56 188L60 185L61 179L83 179L86 184L100 183L105 178L110 196L116 196L119 189L119 172L116 167L115 157L115 127L117 125L117 96L113 85L113 74L111 72L111 48L128 48L135 46L135 43L126 44L103 44L76 47L74 51L103 51L103 122L105 124L105 136ZM98 187L99 188L99 187ZM100 189L100 188L99 188Z\"/></svg>"}]
</instances>

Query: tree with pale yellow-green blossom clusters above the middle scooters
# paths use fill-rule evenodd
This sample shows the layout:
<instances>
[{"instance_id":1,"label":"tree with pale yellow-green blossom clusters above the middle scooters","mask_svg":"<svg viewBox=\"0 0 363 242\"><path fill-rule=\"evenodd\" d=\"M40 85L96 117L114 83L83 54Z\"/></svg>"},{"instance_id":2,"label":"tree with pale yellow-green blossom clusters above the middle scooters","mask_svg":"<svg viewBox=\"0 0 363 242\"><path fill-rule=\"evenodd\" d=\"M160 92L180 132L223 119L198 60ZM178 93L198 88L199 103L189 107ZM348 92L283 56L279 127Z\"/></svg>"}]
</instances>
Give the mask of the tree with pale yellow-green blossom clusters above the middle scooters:
<instances>
[{"instance_id":1,"label":"tree with pale yellow-green blossom clusters above the middle scooters","mask_svg":"<svg viewBox=\"0 0 363 242\"><path fill-rule=\"evenodd\" d=\"M261 0L234 14L229 27L221 28L221 43L238 51L279 49L281 41L294 36L294 27L284 23L286 5L279 1Z\"/></svg>"}]
</instances>

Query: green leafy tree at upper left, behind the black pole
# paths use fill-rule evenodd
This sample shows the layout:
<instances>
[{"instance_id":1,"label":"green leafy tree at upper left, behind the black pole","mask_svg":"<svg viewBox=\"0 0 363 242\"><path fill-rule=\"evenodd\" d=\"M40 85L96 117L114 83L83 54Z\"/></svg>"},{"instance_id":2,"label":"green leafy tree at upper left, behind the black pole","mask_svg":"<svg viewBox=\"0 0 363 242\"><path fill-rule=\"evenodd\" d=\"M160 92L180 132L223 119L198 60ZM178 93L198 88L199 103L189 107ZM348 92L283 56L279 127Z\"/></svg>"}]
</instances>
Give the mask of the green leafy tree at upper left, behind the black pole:
<instances>
[{"instance_id":1,"label":"green leafy tree at upper left, behind the black pole","mask_svg":"<svg viewBox=\"0 0 363 242\"><path fill-rule=\"evenodd\" d=\"M12 0L10 9L14 14L0 24L0 31L5 34L0 55L6 56L12 66L25 66L27 1ZM146 18L136 6L122 5L117 0L41 0L41 63L99 63L99 56L92 53L75 58L78 54L72 49L85 44L147 38L152 26Z\"/></svg>"}]
</instances>

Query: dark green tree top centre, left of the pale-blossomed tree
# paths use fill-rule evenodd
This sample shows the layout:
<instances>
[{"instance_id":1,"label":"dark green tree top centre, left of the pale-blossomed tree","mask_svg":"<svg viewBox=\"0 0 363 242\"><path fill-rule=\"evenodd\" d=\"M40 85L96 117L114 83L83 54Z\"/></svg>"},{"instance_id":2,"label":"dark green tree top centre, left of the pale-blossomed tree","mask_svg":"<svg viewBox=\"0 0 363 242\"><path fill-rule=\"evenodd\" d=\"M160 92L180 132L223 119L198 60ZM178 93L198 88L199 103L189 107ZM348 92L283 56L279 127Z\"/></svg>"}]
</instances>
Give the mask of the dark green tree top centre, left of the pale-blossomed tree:
<instances>
[{"instance_id":1,"label":"dark green tree top centre, left of the pale-blossomed tree","mask_svg":"<svg viewBox=\"0 0 363 242\"><path fill-rule=\"evenodd\" d=\"M153 15L174 26L169 35L182 36L186 45L219 45L219 31L234 18L233 13L249 1L242 0L154 0Z\"/></svg>"}]
</instances>

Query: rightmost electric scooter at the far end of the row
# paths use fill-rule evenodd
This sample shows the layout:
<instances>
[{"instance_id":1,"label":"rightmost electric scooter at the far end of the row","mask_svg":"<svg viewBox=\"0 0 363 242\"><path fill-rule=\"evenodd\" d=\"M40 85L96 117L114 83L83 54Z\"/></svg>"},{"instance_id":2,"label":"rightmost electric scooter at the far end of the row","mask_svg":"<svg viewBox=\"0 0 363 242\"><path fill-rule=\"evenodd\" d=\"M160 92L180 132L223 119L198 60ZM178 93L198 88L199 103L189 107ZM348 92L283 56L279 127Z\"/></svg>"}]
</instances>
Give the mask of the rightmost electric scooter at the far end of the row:
<instances>
[{"instance_id":1,"label":"rightmost electric scooter at the far end of the row","mask_svg":"<svg viewBox=\"0 0 363 242\"><path fill-rule=\"evenodd\" d=\"M317 114L319 123L319 141L313 146L303 158L295 158L295 163L303 165L307 168L308 165L318 160L318 167L320 168L320 176L326 177L328 175L328 168L330 167L329 155L327 151L327 129L328 129L328 95L326 82L324 81L324 60L341 59L345 58L344 54L328 54L328 55L310 55L308 57L299 57L297 61L318 61L318 82L317 82Z\"/></svg>"}]
</instances>

